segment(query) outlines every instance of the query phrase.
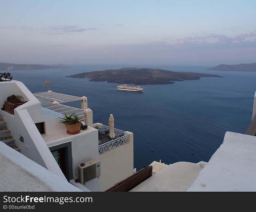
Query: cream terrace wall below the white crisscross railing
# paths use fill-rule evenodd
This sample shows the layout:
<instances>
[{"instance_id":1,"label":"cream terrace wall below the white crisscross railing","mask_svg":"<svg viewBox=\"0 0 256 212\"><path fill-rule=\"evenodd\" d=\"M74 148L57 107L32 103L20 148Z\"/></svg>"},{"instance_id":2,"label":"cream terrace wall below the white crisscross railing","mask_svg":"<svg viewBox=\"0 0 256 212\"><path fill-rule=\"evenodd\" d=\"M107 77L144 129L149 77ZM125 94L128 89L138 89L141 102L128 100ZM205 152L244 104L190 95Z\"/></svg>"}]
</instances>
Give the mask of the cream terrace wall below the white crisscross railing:
<instances>
[{"instance_id":1,"label":"cream terrace wall below the white crisscross railing","mask_svg":"<svg viewBox=\"0 0 256 212\"><path fill-rule=\"evenodd\" d=\"M102 154L100 158L100 191L105 191L121 180L133 174L133 133L129 134L129 143Z\"/></svg>"}]
</instances>

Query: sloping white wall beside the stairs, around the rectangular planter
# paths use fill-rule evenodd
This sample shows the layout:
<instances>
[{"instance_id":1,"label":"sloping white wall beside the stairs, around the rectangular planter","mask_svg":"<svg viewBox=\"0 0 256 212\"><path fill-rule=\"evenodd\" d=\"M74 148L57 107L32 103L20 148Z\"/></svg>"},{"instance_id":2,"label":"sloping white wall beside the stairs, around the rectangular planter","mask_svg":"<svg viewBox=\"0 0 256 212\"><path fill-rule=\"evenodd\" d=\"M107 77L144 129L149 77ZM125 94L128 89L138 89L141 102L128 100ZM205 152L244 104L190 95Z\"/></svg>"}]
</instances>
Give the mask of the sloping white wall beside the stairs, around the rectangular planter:
<instances>
[{"instance_id":1,"label":"sloping white wall beside the stairs, around the rectangular planter","mask_svg":"<svg viewBox=\"0 0 256 212\"><path fill-rule=\"evenodd\" d=\"M21 153L65 179L34 124L42 120L40 102L22 82L15 80L0 82L0 103L4 103L6 98L12 94L21 95L23 96L23 101L28 101L24 105L17 107L14 110L14 115L1 111L3 119L7 122L7 127L11 130L11 135L16 139L16 144L21 149ZM19 141L20 136L24 138L24 142Z\"/></svg>"}]
</instances>

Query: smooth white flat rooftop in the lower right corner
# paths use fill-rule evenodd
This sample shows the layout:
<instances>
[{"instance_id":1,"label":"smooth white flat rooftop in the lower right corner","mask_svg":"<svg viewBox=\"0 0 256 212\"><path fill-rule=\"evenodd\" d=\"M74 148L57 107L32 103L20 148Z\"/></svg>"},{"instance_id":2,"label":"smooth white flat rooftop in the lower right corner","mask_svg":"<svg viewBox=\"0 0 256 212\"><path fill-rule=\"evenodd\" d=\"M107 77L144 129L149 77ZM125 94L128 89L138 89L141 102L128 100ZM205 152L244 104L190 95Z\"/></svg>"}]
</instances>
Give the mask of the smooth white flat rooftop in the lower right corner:
<instances>
[{"instance_id":1,"label":"smooth white flat rooftop in the lower right corner","mask_svg":"<svg viewBox=\"0 0 256 212\"><path fill-rule=\"evenodd\" d=\"M256 137L226 132L187 191L256 191Z\"/></svg>"}]
</instances>

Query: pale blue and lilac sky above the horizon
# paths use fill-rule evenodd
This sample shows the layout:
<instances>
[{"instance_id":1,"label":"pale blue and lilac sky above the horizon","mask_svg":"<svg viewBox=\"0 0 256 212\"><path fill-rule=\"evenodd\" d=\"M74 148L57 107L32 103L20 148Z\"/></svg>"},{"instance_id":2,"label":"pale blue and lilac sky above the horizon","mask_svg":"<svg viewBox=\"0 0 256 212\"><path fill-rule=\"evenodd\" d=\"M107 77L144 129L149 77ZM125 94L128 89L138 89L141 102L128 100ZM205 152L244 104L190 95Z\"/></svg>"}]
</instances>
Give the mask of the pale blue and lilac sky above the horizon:
<instances>
[{"instance_id":1,"label":"pale blue and lilac sky above the horizon","mask_svg":"<svg viewBox=\"0 0 256 212\"><path fill-rule=\"evenodd\" d=\"M0 0L0 62L256 62L256 1Z\"/></svg>"}]
</instances>

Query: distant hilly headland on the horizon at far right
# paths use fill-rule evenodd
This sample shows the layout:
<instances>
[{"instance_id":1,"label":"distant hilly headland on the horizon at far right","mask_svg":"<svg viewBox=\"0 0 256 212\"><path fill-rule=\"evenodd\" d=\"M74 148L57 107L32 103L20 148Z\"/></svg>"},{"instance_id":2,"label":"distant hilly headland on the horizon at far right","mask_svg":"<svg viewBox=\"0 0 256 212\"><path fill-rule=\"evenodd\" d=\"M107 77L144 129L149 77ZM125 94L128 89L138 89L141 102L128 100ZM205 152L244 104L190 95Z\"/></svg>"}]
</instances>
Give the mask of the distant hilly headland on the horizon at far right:
<instances>
[{"instance_id":1,"label":"distant hilly headland on the horizon at far right","mask_svg":"<svg viewBox=\"0 0 256 212\"><path fill-rule=\"evenodd\" d=\"M256 63L244 63L237 65L220 64L216 67L205 69L215 71L256 71Z\"/></svg>"}]
</instances>

